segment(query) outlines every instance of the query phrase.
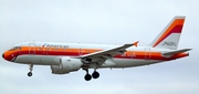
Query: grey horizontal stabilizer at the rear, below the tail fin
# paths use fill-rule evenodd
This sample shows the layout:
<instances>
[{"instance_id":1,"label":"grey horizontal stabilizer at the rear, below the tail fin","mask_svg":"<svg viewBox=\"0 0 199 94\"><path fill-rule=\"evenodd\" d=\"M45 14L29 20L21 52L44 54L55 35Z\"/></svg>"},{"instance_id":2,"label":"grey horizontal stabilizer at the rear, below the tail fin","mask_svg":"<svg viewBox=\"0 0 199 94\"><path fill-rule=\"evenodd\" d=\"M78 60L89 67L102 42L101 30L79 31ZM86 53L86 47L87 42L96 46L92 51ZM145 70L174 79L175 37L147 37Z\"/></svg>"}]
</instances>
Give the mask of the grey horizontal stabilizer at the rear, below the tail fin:
<instances>
[{"instance_id":1,"label":"grey horizontal stabilizer at the rear, below the tail fin","mask_svg":"<svg viewBox=\"0 0 199 94\"><path fill-rule=\"evenodd\" d=\"M172 56L175 54L187 52L187 51L190 51L190 50L192 50L192 49L176 50L176 51L165 52L165 53L163 53L163 55L166 56L166 58L170 58L170 56Z\"/></svg>"}]
</instances>

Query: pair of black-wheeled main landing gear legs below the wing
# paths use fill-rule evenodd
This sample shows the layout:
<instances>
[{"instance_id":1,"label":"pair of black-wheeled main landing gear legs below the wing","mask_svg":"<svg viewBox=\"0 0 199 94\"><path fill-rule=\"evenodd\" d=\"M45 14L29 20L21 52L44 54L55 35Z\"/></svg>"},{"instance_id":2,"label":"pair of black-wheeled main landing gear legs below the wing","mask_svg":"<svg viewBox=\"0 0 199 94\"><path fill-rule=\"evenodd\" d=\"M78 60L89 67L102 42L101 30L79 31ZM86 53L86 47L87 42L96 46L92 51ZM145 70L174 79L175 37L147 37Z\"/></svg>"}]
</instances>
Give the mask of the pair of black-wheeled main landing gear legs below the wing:
<instances>
[{"instance_id":1,"label":"pair of black-wheeled main landing gear legs below the wing","mask_svg":"<svg viewBox=\"0 0 199 94\"><path fill-rule=\"evenodd\" d=\"M98 79L100 77L100 73L95 70L92 75L88 73L88 69L83 69L86 71L86 75L84 76L85 81L91 81L92 77L93 79Z\"/></svg>"}]
</instances>

